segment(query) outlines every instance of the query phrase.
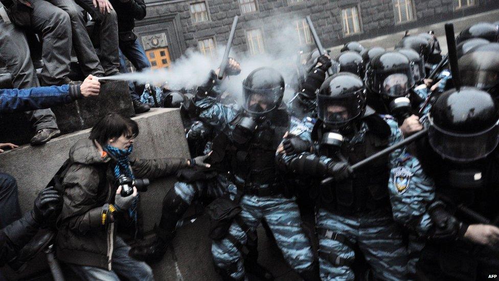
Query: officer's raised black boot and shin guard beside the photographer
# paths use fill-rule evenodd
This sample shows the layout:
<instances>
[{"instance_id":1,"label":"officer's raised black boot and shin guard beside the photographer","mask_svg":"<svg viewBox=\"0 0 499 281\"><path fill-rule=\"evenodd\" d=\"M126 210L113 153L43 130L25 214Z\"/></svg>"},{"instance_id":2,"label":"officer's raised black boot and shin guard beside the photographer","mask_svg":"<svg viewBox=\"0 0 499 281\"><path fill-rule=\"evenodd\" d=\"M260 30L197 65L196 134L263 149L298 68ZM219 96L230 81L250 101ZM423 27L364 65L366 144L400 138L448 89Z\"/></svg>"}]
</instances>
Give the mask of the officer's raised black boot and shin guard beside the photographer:
<instances>
[{"instance_id":1,"label":"officer's raised black boot and shin guard beside the photographer","mask_svg":"<svg viewBox=\"0 0 499 281\"><path fill-rule=\"evenodd\" d=\"M171 188L163 200L161 221L160 225L155 227L154 240L151 243L131 248L128 255L135 260L148 263L161 261L175 236L175 226L187 208L189 204L177 196L174 188Z\"/></svg>"}]
</instances>

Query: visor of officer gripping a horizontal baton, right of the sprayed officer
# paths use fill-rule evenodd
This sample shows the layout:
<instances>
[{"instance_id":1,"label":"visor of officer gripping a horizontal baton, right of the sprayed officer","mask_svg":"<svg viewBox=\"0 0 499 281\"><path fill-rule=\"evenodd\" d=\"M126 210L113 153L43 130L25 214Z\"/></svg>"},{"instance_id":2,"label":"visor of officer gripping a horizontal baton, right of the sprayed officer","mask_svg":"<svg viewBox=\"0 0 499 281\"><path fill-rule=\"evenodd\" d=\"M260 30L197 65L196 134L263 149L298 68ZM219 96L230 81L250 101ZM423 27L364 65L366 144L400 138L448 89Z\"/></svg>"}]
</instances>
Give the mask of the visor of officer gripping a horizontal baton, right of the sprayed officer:
<instances>
[{"instance_id":1,"label":"visor of officer gripping a horizontal baton, right of the sprayed officer","mask_svg":"<svg viewBox=\"0 0 499 281\"><path fill-rule=\"evenodd\" d=\"M364 103L362 91L343 97L317 95L317 114L324 123L340 127L360 116Z\"/></svg>"}]
</instances>

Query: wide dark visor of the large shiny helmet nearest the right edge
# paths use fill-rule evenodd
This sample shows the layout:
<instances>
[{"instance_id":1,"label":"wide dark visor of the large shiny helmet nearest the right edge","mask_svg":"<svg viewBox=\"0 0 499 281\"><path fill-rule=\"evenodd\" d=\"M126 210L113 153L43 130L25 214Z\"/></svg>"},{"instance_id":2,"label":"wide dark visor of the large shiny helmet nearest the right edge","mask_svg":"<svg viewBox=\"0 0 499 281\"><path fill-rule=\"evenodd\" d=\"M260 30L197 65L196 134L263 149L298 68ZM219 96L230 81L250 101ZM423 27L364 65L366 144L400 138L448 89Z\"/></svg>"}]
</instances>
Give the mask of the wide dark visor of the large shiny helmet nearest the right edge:
<instances>
[{"instance_id":1,"label":"wide dark visor of the large shiny helmet nearest the right edge","mask_svg":"<svg viewBox=\"0 0 499 281\"><path fill-rule=\"evenodd\" d=\"M428 117L428 140L430 146L444 159L455 162L471 162L487 157L499 141L499 126L474 134L456 134L445 131Z\"/></svg>"}]
</instances>

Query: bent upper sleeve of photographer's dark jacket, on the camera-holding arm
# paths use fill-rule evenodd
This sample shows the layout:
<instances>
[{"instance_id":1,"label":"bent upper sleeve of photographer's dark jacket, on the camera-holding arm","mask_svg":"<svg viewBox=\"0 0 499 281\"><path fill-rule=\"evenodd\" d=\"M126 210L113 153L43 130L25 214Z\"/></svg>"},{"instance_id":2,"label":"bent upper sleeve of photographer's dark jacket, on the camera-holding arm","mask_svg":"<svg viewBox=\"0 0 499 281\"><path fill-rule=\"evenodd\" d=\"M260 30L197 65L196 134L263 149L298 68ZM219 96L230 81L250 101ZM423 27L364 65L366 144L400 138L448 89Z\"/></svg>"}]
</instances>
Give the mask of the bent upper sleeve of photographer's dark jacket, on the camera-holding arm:
<instances>
[{"instance_id":1,"label":"bent upper sleeve of photographer's dark jacket, on the camera-holding arm","mask_svg":"<svg viewBox=\"0 0 499 281\"><path fill-rule=\"evenodd\" d=\"M101 226L102 206L97 202L99 172L97 168L74 164L63 181L64 202L60 223L69 229L85 234Z\"/></svg>"}]
</instances>

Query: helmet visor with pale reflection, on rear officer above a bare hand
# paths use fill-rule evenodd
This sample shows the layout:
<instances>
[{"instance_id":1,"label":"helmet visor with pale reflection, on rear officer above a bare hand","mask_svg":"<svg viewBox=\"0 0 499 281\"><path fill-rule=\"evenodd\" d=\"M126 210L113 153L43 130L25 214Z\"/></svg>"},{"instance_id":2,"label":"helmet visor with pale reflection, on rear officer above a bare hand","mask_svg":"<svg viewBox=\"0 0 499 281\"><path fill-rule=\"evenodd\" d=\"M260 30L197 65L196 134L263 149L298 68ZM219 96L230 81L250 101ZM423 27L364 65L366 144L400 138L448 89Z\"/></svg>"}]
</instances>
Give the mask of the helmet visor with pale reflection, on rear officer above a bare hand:
<instances>
[{"instance_id":1,"label":"helmet visor with pale reflection, on rear officer above a bare hand","mask_svg":"<svg viewBox=\"0 0 499 281\"><path fill-rule=\"evenodd\" d=\"M412 67L397 72L374 72L370 82L371 89L382 96L406 96L414 85Z\"/></svg>"}]
</instances>

